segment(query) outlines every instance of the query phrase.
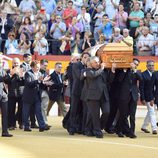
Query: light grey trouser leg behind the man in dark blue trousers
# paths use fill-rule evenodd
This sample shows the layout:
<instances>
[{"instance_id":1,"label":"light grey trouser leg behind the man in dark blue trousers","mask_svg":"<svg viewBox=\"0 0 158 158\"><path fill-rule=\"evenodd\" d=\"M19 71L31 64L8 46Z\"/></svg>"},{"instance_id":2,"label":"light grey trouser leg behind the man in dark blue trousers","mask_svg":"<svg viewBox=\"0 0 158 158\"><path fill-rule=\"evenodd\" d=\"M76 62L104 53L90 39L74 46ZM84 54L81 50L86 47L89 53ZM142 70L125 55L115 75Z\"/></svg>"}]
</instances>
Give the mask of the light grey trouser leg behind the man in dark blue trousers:
<instances>
[{"instance_id":1,"label":"light grey trouser leg behind the man in dark blue trousers","mask_svg":"<svg viewBox=\"0 0 158 158\"><path fill-rule=\"evenodd\" d=\"M41 94L41 111L42 116L44 119L44 122L47 124L47 109L48 109L48 103L49 103L49 96L47 91L43 90Z\"/></svg>"}]
</instances>

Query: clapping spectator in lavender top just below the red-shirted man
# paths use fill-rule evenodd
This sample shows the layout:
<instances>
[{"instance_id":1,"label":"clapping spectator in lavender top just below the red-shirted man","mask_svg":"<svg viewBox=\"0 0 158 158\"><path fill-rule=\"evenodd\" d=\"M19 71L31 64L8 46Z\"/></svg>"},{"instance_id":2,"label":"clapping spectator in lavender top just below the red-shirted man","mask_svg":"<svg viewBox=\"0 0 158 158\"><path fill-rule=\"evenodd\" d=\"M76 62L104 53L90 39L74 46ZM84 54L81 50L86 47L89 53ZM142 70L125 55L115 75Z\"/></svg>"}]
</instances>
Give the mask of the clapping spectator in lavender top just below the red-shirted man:
<instances>
[{"instance_id":1,"label":"clapping spectator in lavender top just below the red-shirted man","mask_svg":"<svg viewBox=\"0 0 158 158\"><path fill-rule=\"evenodd\" d=\"M69 24L68 31L72 34L72 37L75 38L76 33L81 33L83 30L83 25L77 21L76 17L73 17L72 23Z\"/></svg>"}]
</instances>

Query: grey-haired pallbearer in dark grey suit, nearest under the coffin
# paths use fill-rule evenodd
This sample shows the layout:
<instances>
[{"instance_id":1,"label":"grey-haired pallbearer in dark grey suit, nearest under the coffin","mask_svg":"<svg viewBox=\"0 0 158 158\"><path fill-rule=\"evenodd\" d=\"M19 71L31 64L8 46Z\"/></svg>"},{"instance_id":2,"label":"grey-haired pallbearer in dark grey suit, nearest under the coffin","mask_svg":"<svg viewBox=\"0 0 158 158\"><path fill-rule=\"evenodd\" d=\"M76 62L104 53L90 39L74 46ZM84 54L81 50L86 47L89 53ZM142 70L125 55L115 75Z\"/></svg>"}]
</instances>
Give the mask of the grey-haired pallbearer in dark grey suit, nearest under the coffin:
<instances>
[{"instance_id":1,"label":"grey-haired pallbearer in dark grey suit, nearest under the coffin","mask_svg":"<svg viewBox=\"0 0 158 158\"><path fill-rule=\"evenodd\" d=\"M111 76L111 72L104 70L104 63L102 63L101 68L99 68L98 57L91 57L90 64L92 68L84 72L84 76L86 77L88 85L85 98L88 107L88 113L92 118L93 134L97 138L102 138L103 134L101 131L101 126L102 128L105 128L110 112L108 78ZM112 66L112 72L115 73L114 65ZM100 109L102 110L101 123Z\"/></svg>"}]
</instances>

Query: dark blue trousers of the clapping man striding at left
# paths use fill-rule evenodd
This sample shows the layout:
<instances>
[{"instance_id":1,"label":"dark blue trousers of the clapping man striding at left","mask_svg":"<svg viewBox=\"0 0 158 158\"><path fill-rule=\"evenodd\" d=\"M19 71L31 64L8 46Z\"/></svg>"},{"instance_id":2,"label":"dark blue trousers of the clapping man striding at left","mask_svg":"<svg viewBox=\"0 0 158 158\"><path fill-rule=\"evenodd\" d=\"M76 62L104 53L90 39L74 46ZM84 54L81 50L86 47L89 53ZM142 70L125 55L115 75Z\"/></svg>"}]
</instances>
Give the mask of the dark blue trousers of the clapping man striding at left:
<instances>
[{"instance_id":1,"label":"dark blue trousers of the clapping man striding at left","mask_svg":"<svg viewBox=\"0 0 158 158\"><path fill-rule=\"evenodd\" d=\"M45 122L43 120L43 116L41 112L41 103L40 101L36 101L34 104L23 102L23 123L25 129L30 127L29 114L32 106L35 106L35 115L37 118L39 128L45 128Z\"/></svg>"}]
</instances>

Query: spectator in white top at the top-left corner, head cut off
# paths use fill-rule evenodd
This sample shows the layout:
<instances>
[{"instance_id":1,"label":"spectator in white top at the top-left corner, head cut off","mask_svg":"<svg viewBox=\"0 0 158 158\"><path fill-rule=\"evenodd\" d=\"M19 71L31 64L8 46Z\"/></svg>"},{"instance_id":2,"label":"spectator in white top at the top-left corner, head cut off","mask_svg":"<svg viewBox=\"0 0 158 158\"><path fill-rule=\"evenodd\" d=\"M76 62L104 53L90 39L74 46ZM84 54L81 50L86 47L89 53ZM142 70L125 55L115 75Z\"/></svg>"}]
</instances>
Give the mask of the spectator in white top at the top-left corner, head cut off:
<instances>
[{"instance_id":1,"label":"spectator in white top at the top-left corner, head cut off","mask_svg":"<svg viewBox=\"0 0 158 158\"><path fill-rule=\"evenodd\" d=\"M18 11L15 0L2 0L0 2L0 9L7 14L15 14Z\"/></svg>"}]
</instances>

